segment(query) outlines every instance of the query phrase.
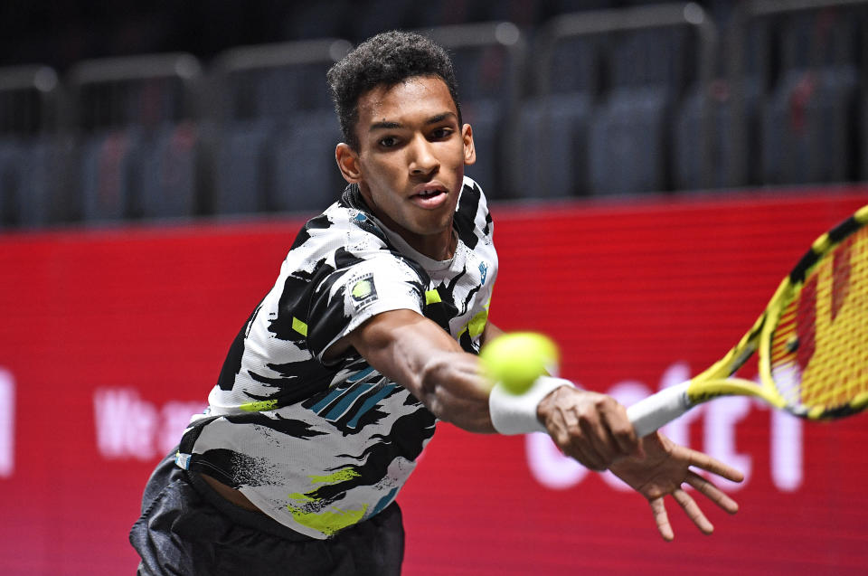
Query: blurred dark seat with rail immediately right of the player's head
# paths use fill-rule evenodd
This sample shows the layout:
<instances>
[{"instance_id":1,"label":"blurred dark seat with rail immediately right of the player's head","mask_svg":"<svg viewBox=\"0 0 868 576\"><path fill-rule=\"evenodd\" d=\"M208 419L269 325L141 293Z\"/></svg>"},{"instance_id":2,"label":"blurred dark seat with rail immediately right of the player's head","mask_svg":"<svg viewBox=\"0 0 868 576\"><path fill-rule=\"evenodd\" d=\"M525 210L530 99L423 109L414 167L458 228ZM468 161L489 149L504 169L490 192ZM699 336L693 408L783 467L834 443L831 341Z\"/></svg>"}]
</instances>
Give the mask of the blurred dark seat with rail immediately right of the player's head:
<instances>
[{"instance_id":1,"label":"blurred dark seat with rail immediately right of the player's head","mask_svg":"<svg viewBox=\"0 0 868 576\"><path fill-rule=\"evenodd\" d=\"M515 166L501 160L523 146L516 140L514 119L526 58L524 34L508 22L441 26L426 33L455 62L462 119L473 127L476 145L476 164L467 166L467 175L489 198L516 195Z\"/></svg>"}]
</instances>

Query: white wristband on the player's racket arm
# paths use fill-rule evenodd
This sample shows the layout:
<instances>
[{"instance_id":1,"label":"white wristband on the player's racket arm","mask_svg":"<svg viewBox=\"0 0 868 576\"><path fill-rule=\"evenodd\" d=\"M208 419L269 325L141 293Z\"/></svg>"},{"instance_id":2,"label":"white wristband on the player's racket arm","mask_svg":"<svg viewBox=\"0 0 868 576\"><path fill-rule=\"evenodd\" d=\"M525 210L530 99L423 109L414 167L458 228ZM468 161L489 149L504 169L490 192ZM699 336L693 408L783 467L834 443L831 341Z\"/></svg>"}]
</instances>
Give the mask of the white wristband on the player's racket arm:
<instances>
[{"instance_id":1,"label":"white wristband on the player's racket arm","mask_svg":"<svg viewBox=\"0 0 868 576\"><path fill-rule=\"evenodd\" d=\"M545 426L536 417L536 407L543 398L561 386L574 386L569 380L540 376L524 394L506 392L499 383L488 396L491 423L501 434L529 434L544 432Z\"/></svg>"}]
</instances>

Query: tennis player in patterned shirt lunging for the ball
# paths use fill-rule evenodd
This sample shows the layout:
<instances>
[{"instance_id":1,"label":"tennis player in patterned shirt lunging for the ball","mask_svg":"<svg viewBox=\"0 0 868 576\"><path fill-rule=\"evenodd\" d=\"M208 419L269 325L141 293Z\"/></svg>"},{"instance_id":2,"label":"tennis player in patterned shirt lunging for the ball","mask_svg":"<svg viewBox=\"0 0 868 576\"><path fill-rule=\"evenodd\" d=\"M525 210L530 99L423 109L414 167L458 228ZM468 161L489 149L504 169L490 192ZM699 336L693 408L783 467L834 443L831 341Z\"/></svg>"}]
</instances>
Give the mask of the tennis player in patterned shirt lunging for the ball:
<instances>
[{"instance_id":1,"label":"tennis player in patterned shirt lunging for the ball","mask_svg":"<svg viewBox=\"0 0 868 576\"><path fill-rule=\"evenodd\" d=\"M741 473L662 435L638 439L612 398L544 376L522 396L477 370L497 276L476 149L452 64L413 33L363 42L328 73L348 185L306 223L231 345L209 407L148 481L130 541L139 574L398 574L395 497L438 420L471 432L547 431L612 470L673 537L681 486L737 505L693 468ZM459 504L458 504L459 505Z\"/></svg>"}]
</instances>

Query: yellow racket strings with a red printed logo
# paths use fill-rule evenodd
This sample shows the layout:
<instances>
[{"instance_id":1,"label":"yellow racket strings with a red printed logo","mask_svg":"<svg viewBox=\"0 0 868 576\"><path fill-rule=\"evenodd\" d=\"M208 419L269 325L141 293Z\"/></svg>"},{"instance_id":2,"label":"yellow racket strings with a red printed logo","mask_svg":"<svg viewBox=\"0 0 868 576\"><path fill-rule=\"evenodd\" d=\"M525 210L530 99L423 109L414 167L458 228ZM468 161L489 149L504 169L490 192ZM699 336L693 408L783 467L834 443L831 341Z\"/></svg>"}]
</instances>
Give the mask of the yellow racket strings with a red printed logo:
<instances>
[{"instance_id":1,"label":"yellow racket strings with a red printed logo","mask_svg":"<svg viewBox=\"0 0 868 576\"><path fill-rule=\"evenodd\" d=\"M810 270L779 317L770 363L778 392L794 411L868 401L868 228Z\"/></svg>"}]
</instances>

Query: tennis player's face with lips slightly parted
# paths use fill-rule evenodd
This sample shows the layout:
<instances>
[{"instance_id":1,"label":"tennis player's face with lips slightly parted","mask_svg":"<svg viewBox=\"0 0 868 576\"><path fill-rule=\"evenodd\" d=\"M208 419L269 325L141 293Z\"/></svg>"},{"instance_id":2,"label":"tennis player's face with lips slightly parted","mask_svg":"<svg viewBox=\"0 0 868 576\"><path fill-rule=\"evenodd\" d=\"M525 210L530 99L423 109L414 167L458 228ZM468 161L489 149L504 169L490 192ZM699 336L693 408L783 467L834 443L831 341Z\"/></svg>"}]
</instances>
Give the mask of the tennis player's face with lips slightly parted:
<instances>
[{"instance_id":1,"label":"tennis player's face with lips slightly parted","mask_svg":"<svg viewBox=\"0 0 868 576\"><path fill-rule=\"evenodd\" d=\"M355 181L365 201L416 250L451 256L464 165L476 155L446 83L415 77L377 87L359 99L358 112Z\"/></svg>"}]
</instances>

